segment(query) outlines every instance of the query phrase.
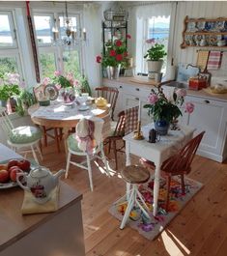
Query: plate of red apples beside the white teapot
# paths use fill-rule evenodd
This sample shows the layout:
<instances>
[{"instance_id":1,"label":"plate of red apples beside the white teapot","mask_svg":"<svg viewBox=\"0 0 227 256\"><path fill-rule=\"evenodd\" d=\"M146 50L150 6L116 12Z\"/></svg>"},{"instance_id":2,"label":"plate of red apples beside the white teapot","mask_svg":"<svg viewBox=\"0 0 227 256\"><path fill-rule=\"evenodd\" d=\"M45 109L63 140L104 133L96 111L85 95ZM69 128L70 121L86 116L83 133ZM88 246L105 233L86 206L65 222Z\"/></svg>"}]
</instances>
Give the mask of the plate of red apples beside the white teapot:
<instances>
[{"instance_id":1,"label":"plate of red apples beside the white teapot","mask_svg":"<svg viewBox=\"0 0 227 256\"><path fill-rule=\"evenodd\" d=\"M31 168L33 168L31 162L23 158L0 162L0 189L16 186L17 173L29 173Z\"/></svg>"}]
</instances>

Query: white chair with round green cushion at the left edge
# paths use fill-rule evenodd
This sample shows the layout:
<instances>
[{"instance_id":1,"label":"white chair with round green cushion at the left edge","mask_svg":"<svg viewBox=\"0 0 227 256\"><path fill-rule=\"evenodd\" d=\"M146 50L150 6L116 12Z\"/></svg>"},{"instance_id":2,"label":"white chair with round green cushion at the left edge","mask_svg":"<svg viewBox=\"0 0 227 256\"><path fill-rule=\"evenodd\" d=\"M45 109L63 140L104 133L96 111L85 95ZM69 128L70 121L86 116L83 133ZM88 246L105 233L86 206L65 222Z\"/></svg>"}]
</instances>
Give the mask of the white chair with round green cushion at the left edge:
<instances>
[{"instance_id":1,"label":"white chair with round green cushion at the left edge","mask_svg":"<svg viewBox=\"0 0 227 256\"><path fill-rule=\"evenodd\" d=\"M39 164L39 160L36 151L39 153L41 159L43 155L39 147L39 142L42 138L42 131L40 128L23 126L14 128L9 115L6 112L5 107L0 107L0 122L4 132L7 135L7 143L14 152L25 154L31 152L36 162Z\"/></svg>"}]
</instances>

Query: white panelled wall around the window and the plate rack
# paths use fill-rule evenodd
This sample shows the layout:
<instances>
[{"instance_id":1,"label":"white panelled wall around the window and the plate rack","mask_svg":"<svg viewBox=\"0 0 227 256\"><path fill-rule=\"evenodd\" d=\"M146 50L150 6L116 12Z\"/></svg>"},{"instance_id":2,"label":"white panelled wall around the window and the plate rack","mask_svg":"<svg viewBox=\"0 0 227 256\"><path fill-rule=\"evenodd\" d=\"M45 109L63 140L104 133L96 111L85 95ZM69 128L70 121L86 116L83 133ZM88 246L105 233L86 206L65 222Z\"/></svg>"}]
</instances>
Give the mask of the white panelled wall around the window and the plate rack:
<instances>
[{"instance_id":1,"label":"white panelled wall around the window and the plate rack","mask_svg":"<svg viewBox=\"0 0 227 256\"><path fill-rule=\"evenodd\" d=\"M127 2L124 3L125 8L128 9L130 15L134 15L134 8L137 6L143 5L146 8L146 5L152 4L154 9L156 5L158 5L158 1L149 2L132 2L128 4ZM173 47L168 50L168 54L171 54L171 50L173 53L174 64L177 65L178 63L191 63L196 64L197 59L197 47L187 47L185 49L181 49L180 45L183 42L182 32L184 30L184 17L188 15L188 17L204 17L204 18L216 18L220 16L227 16L227 1L180 1L177 2L177 9L174 11L176 12L176 16L173 17L171 21L175 20L175 23L171 22L171 29L170 29L170 40ZM175 27L173 25L175 24ZM128 21L128 31L131 33L131 43L129 42L128 48L131 52L134 52L134 45L135 45L135 37L134 34L136 29L134 28L136 24L131 21L131 16L129 17ZM171 34L172 33L172 34ZM209 49L212 49L211 47ZM172 56L171 56L172 57ZM221 71L219 71L221 74Z\"/></svg>"}]
</instances>

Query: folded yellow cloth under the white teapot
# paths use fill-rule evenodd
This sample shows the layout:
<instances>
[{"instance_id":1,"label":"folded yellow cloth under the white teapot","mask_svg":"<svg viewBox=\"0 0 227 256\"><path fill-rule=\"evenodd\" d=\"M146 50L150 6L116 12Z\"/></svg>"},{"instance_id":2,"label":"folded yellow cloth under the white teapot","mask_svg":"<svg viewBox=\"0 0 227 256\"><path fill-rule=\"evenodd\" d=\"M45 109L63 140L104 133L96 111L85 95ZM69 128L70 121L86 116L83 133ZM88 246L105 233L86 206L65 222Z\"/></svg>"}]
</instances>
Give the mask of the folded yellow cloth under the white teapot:
<instances>
[{"instance_id":1,"label":"folded yellow cloth under the white teapot","mask_svg":"<svg viewBox=\"0 0 227 256\"><path fill-rule=\"evenodd\" d=\"M59 186L55 186L50 192L50 199L44 204L39 204L36 203L34 195L30 191L24 190L22 214L56 212L58 210L58 192Z\"/></svg>"}]
</instances>

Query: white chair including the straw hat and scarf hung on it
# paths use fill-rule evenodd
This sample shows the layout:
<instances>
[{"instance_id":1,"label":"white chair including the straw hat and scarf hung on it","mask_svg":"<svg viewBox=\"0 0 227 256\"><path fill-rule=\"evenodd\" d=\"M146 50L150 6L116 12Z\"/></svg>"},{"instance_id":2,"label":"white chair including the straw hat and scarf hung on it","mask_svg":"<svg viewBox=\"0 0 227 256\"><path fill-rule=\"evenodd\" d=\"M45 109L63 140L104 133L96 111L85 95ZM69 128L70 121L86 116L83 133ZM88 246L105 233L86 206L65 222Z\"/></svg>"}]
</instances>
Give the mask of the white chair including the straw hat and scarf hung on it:
<instances>
[{"instance_id":1,"label":"white chair including the straw hat and scarf hung on it","mask_svg":"<svg viewBox=\"0 0 227 256\"><path fill-rule=\"evenodd\" d=\"M93 122L94 124L92 124L91 122ZM93 128L91 128L91 125L93 126ZM89 119L83 118L77 124L76 132L71 134L67 139L69 153L67 157L65 178L67 179L69 176L70 164L78 166L82 169L86 169L88 170L89 182L92 191L94 186L92 179L91 160L93 160L94 158L101 159L104 163L106 174L110 176L108 162L106 160L103 150L103 125L103 119L100 119L98 117L92 117ZM93 148L89 150L88 143L91 143L91 139L94 139L93 143L95 142L95 144L93 145ZM72 155L85 156L86 159L82 162L72 161Z\"/></svg>"}]
</instances>

